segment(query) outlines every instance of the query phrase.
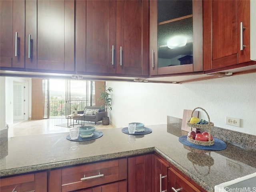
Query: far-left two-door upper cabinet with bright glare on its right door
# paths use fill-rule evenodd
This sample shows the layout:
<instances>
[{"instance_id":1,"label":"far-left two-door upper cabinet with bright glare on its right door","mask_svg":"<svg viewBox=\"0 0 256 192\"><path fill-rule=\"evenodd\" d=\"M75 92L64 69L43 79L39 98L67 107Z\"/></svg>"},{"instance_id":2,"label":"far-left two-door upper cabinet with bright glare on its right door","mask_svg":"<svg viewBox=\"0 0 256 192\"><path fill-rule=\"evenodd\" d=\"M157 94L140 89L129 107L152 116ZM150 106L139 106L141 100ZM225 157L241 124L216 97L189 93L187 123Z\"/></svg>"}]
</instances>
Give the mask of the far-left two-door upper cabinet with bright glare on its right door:
<instances>
[{"instance_id":1,"label":"far-left two-door upper cabinet with bright glare on its right door","mask_svg":"<svg viewBox=\"0 0 256 192\"><path fill-rule=\"evenodd\" d=\"M1 6L1 67L74 71L74 0Z\"/></svg>"}]
</instances>

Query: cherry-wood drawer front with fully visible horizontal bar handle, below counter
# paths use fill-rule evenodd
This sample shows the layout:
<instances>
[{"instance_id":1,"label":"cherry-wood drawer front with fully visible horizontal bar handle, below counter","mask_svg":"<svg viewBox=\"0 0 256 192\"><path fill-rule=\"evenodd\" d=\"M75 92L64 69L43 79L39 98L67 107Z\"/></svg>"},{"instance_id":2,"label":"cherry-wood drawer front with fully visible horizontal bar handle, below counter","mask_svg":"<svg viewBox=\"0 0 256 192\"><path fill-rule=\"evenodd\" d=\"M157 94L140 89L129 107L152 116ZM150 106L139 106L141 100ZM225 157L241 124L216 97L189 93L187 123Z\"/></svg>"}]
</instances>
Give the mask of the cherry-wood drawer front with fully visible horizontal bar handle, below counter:
<instances>
[{"instance_id":1,"label":"cherry-wood drawer front with fully visible horizontal bar handle, below counter","mask_svg":"<svg viewBox=\"0 0 256 192\"><path fill-rule=\"evenodd\" d=\"M127 159L62 169L62 192L98 186L127 178Z\"/></svg>"}]
</instances>

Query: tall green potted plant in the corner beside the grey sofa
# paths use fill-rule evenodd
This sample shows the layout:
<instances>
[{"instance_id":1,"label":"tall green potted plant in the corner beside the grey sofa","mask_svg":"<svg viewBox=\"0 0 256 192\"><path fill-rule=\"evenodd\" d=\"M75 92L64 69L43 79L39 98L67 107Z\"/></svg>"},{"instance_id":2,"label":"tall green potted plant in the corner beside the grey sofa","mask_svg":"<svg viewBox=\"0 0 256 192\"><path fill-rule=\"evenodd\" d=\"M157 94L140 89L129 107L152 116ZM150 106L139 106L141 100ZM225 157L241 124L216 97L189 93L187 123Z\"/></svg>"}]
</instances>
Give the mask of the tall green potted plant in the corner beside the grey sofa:
<instances>
[{"instance_id":1,"label":"tall green potted plant in the corner beside the grey sofa","mask_svg":"<svg viewBox=\"0 0 256 192\"><path fill-rule=\"evenodd\" d=\"M100 88L100 97L98 98L98 100L103 101L103 105L100 107L101 109L105 109L106 112L106 116L102 118L102 125L109 125L109 117L107 115L107 110L112 110L112 98L110 97L110 92L112 91L113 89L111 87L107 88L106 86L103 86L102 88Z\"/></svg>"}]
</instances>

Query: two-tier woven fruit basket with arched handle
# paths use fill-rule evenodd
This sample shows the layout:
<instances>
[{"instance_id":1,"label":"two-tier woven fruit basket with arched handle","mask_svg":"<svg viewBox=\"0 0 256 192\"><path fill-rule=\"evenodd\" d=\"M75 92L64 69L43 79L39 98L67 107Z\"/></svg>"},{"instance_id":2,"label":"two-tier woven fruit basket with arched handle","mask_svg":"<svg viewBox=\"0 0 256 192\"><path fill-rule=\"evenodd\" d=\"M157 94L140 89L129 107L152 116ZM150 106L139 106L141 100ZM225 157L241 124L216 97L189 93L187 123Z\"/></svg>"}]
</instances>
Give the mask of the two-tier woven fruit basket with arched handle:
<instances>
[{"instance_id":1,"label":"two-tier woven fruit basket with arched handle","mask_svg":"<svg viewBox=\"0 0 256 192\"><path fill-rule=\"evenodd\" d=\"M208 134L209 134L209 140L208 141L198 141L198 140L194 140L194 139L191 139L189 137L187 137L187 141L188 142L191 142L191 143L194 143L194 144L197 144L197 145L202 145L202 146L211 146L211 145L214 145L214 139L211 140L211 128L214 127L214 123L213 122L210 122L210 117L208 115L208 113L206 112L206 110L204 110L203 108L201 107L197 107L197 108L194 108L194 110L192 111L191 113L191 117L193 116L193 113L196 109L201 109L203 110L206 115L207 115L207 118L208 118L208 124L192 124L190 123L190 120L188 120L187 122L187 126L191 127L191 130L192 128L196 128L196 129L207 129L208 131Z\"/></svg>"}]
</instances>

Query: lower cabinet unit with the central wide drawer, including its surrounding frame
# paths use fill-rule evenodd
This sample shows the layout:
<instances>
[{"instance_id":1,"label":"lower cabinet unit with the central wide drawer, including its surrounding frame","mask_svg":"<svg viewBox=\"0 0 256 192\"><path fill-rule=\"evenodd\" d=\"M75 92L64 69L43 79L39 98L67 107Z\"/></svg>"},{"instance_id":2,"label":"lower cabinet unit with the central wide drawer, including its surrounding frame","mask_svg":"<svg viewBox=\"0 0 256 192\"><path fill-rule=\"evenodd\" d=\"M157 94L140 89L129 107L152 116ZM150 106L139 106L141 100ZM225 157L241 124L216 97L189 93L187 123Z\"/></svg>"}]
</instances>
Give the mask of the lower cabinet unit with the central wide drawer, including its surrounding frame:
<instances>
[{"instance_id":1,"label":"lower cabinet unit with the central wide drawer, including its surrounding frame","mask_svg":"<svg viewBox=\"0 0 256 192\"><path fill-rule=\"evenodd\" d=\"M118 182L126 180L126 178L126 158L72 166L50 171L49 192L70 192L74 190L104 192L108 188L113 188L113 192L118 192L116 189L124 187L124 183L119 184ZM117 183L103 186L113 182ZM95 186L97 188L94 188Z\"/></svg>"}]
</instances>

